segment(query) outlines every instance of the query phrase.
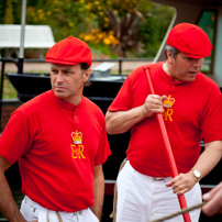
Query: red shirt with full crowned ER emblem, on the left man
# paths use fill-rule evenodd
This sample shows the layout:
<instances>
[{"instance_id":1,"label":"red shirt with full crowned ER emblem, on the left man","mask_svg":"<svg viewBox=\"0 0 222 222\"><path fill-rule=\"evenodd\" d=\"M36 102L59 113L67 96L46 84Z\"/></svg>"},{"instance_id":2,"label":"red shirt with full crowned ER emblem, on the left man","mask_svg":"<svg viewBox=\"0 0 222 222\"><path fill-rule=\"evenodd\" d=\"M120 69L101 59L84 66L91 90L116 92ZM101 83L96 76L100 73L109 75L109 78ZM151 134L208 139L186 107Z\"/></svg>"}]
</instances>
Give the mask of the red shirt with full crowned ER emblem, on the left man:
<instances>
[{"instance_id":1,"label":"red shirt with full crowned ER emblem, on the left man","mask_svg":"<svg viewBox=\"0 0 222 222\"><path fill-rule=\"evenodd\" d=\"M21 106L0 137L0 155L19 159L23 195L54 211L95 204L95 166L110 154L102 111L85 97L76 107L52 90Z\"/></svg>"}]
</instances>

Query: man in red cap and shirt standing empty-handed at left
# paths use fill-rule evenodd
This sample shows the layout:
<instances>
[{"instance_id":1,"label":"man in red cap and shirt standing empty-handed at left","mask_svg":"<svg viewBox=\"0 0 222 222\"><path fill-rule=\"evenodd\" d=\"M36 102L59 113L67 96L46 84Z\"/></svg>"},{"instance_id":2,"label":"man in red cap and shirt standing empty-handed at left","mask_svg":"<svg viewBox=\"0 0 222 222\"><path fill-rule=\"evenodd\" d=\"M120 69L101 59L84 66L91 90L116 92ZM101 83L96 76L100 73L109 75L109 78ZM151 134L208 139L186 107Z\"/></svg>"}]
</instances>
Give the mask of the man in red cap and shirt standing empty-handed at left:
<instances>
[{"instance_id":1,"label":"man in red cap and shirt standing empty-handed at left","mask_svg":"<svg viewBox=\"0 0 222 222\"><path fill-rule=\"evenodd\" d=\"M13 221L100 221L111 154L102 111L82 96L91 52L73 36L47 53L52 90L13 112L0 137L0 210ZM4 171L19 160L19 211Z\"/></svg>"}]
</instances>

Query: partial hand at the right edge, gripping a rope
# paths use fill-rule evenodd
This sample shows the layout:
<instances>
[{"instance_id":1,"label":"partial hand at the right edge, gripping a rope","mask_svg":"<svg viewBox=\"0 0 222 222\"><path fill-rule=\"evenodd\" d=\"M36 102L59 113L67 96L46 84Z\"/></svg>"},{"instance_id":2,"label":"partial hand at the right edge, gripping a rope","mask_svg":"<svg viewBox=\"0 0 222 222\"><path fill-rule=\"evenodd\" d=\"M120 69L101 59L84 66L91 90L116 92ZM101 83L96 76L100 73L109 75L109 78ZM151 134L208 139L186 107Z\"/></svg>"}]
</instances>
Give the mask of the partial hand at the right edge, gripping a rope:
<instances>
[{"instance_id":1,"label":"partial hand at the right edge, gripping a rope","mask_svg":"<svg viewBox=\"0 0 222 222\"><path fill-rule=\"evenodd\" d=\"M203 195L202 199L208 201L202 207L202 212L207 215L222 213L222 182L214 187L210 192Z\"/></svg>"}]
</instances>

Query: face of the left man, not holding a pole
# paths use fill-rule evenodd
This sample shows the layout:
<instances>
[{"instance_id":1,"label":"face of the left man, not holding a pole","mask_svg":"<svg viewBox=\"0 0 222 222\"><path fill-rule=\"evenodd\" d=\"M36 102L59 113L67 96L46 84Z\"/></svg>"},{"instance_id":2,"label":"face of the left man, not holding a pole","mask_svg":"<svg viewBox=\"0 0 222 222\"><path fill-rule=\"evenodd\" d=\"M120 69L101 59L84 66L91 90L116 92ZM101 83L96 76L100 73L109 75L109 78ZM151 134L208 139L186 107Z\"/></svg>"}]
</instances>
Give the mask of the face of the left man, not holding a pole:
<instances>
[{"instance_id":1,"label":"face of the left man, not holding a pole","mask_svg":"<svg viewBox=\"0 0 222 222\"><path fill-rule=\"evenodd\" d=\"M80 65L51 65L51 85L56 97L74 104L81 101L84 84L90 76L90 69L81 70Z\"/></svg>"}]
</instances>

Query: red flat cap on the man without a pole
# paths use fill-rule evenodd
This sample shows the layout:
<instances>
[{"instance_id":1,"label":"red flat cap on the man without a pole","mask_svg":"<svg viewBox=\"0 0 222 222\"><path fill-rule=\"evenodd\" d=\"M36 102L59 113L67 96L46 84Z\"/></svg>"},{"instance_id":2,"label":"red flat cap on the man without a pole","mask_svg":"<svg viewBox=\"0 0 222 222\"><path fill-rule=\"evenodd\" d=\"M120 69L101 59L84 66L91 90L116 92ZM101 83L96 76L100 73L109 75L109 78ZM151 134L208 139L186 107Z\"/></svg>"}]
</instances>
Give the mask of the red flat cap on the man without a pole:
<instances>
[{"instance_id":1,"label":"red flat cap on the man without a pole","mask_svg":"<svg viewBox=\"0 0 222 222\"><path fill-rule=\"evenodd\" d=\"M91 66L91 51L81 40L69 36L53 45L45 56L45 62L64 65L87 63Z\"/></svg>"}]
</instances>

